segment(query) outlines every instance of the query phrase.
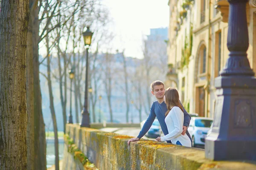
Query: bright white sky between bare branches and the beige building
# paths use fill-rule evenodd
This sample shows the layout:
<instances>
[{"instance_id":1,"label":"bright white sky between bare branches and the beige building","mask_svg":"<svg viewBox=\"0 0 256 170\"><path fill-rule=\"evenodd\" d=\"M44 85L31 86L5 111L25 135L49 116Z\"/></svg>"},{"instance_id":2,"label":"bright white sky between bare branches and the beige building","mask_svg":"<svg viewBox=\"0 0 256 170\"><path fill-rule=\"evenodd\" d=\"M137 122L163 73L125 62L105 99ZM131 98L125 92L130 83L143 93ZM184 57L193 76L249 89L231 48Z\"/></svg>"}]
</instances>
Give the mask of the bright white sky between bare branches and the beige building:
<instances>
[{"instance_id":1,"label":"bright white sky between bare branches and the beige building","mask_svg":"<svg viewBox=\"0 0 256 170\"><path fill-rule=\"evenodd\" d=\"M125 49L127 57L143 58L143 36L150 34L150 28L169 26L168 0L102 0L102 4L113 20L113 49Z\"/></svg>"}]
</instances>

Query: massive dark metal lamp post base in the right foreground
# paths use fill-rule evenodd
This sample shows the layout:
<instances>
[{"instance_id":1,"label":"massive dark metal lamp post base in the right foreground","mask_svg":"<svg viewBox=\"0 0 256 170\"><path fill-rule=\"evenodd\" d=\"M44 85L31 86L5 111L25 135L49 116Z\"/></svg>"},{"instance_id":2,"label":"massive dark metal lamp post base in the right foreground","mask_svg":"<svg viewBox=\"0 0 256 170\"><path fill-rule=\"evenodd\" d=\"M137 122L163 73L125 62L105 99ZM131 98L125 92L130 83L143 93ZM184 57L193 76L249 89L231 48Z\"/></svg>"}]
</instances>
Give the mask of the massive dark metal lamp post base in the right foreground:
<instances>
[{"instance_id":1,"label":"massive dark metal lamp post base in the right foreground","mask_svg":"<svg viewBox=\"0 0 256 170\"><path fill-rule=\"evenodd\" d=\"M230 3L227 48L229 58L215 78L216 104L205 156L212 160L256 160L256 78L247 58L248 0Z\"/></svg>"}]
</instances>

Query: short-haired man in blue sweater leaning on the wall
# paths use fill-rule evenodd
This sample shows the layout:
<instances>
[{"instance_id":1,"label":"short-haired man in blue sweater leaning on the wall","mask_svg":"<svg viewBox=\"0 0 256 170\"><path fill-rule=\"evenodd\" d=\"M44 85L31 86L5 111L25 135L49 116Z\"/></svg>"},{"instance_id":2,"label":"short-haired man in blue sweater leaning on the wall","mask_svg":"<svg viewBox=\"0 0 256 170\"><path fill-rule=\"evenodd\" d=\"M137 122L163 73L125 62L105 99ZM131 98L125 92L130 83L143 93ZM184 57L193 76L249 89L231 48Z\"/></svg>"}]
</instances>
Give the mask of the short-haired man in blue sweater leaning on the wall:
<instances>
[{"instance_id":1,"label":"short-haired man in blue sweater leaning on the wall","mask_svg":"<svg viewBox=\"0 0 256 170\"><path fill-rule=\"evenodd\" d=\"M168 129L167 129L166 123L164 121L165 113L167 111L166 103L163 101L163 96L164 96L164 92L165 92L164 84L163 84L163 82L157 80L157 81L152 82L150 86L151 86L151 93L157 98L157 101L154 101L153 104L151 105L148 119L144 123L139 135L136 138L130 139L128 141L128 145L130 145L130 142L139 141L148 132L149 128L151 127L151 125L154 122L154 119L156 117L160 123L163 134L164 135L168 134ZM183 105L182 105L182 107L183 107ZM183 107L183 110L184 110L184 124L183 124L183 132L181 134L185 135L185 133L186 133L189 136L189 139L191 140L191 137L187 130L187 128L189 127L191 117L186 112L184 107ZM166 142L172 143L171 141L166 141Z\"/></svg>"}]
</instances>

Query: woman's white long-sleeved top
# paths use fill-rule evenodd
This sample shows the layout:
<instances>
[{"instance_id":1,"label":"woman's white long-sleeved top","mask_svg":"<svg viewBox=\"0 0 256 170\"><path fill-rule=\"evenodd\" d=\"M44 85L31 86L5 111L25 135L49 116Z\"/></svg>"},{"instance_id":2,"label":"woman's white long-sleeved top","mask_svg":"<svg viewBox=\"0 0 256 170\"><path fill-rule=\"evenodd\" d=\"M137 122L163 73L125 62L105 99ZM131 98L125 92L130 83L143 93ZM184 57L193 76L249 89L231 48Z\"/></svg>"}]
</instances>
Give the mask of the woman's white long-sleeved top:
<instances>
[{"instance_id":1,"label":"woman's white long-sleeved top","mask_svg":"<svg viewBox=\"0 0 256 170\"><path fill-rule=\"evenodd\" d=\"M169 134L161 136L162 142L171 140L172 144L177 144L179 141L182 146L191 147L189 136L186 133L185 135L181 134L183 131L184 113L179 107L175 106L172 108L166 116L165 122Z\"/></svg>"}]
</instances>

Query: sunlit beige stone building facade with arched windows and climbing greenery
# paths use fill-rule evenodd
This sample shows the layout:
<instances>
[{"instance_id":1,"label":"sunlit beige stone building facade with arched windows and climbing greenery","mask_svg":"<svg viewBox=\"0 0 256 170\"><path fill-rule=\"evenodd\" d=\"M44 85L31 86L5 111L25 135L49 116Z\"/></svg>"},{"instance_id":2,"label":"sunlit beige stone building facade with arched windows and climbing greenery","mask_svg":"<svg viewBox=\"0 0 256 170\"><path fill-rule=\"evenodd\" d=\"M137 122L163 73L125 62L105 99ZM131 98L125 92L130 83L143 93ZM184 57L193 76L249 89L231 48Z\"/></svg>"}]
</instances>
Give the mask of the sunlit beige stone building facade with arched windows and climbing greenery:
<instances>
[{"instance_id":1,"label":"sunlit beige stone building facade with arched windows and climbing greenery","mask_svg":"<svg viewBox=\"0 0 256 170\"><path fill-rule=\"evenodd\" d=\"M169 0L169 73L166 84L176 87L190 113L213 117L214 79L225 66L227 48L227 0ZM256 71L256 2L247 4L248 59Z\"/></svg>"}]
</instances>

